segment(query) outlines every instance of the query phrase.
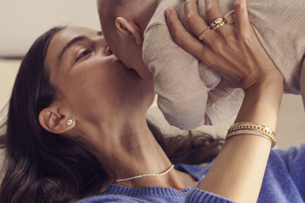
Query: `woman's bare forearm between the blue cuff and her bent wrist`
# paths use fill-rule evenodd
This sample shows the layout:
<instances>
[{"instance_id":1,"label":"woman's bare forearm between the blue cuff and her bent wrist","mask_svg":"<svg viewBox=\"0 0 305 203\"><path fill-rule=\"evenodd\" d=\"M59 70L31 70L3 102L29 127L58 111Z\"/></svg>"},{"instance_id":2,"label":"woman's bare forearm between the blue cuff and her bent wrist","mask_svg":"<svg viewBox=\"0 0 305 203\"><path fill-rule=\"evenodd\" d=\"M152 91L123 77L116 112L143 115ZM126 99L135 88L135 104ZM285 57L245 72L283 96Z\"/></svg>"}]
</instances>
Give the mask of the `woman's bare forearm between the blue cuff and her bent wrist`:
<instances>
[{"instance_id":1,"label":"woman's bare forearm between the blue cuff and her bent wrist","mask_svg":"<svg viewBox=\"0 0 305 203\"><path fill-rule=\"evenodd\" d=\"M275 130L283 93L282 75L257 84L245 93L235 120L267 125ZM256 202L264 177L271 142L252 134L228 138L199 189L235 202Z\"/></svg>"}]
</instances>

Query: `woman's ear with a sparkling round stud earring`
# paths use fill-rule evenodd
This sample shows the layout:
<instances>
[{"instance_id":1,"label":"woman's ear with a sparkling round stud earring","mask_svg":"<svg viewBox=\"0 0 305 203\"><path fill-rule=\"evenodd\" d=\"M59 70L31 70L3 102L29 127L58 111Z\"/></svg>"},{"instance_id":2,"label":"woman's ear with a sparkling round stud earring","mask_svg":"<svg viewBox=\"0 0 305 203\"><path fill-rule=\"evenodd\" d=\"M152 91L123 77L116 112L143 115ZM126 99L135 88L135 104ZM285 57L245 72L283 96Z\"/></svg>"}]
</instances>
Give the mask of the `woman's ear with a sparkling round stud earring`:
<instances>
[{"instance_id":1,"label":"woman's ear with a sparkling round stud earring","mask_svg":"<svg viewBox=\"0 0 305 203\"><path fill-rule=\"evenodd\" d=\"M64 112L56 103L53 103L50 107L41 110L38 115L39 123L42 128L49 132L56 134L64 133L75 126L75 119Z\"/></svg>"}]
</instances>

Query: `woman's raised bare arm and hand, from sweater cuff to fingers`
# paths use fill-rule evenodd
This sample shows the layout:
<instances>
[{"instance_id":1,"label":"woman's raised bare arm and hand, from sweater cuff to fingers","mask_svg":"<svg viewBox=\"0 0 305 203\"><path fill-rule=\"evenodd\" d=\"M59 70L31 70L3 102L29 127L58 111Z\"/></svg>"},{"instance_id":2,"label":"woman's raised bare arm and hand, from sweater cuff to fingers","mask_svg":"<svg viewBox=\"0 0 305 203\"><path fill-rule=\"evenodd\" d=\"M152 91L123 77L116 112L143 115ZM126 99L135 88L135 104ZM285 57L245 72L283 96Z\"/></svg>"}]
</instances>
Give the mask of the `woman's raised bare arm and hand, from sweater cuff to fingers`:
<instances>
[{"instance_id":1,"label":"woman's raised bare arm and hand, from sweater cuff to fingers","mask_svg":"<svg viewBox=\"0 0 305 203\"><path fill-rule=\"evenodd\" d=\"M188 27L199 36L207 27L197 11L196 0L185 2ZM206 0L212 22L221 17L217 0ZM283 76L260 44L249 22L246 0L235 0L235 24L209 30L203 42L185 31L173 9L167 20L178 44L212 66L224 78L221 86L242 88L245 97L237 122L255 122L275 130L283 93ZM170 12L170 13L168 13ZM235 202L256 202L271 143L259 135L228 138L199 189Z\"/></svg>"}]
</instances>

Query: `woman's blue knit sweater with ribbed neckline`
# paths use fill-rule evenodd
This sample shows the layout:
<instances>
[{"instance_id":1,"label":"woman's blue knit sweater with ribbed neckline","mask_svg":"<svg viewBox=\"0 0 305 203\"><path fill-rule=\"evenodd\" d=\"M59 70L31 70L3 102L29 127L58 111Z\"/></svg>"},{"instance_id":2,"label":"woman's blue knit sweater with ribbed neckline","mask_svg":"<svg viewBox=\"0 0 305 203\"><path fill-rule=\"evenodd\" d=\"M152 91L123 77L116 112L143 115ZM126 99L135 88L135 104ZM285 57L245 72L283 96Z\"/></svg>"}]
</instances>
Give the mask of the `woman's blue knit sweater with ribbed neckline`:
<instances>
[{"instance_id":1,"label":"woman's blue knit sweater with ribbed neckline","mask_svg":"<svg viewBox=\"0 0 305 203\"><path fill-rule=\"evenodd\" d=\"M207 167L201 167L179 164L175 169L202 180L211 165L212 163ZM118 185L109 185L103 194L77 201L77 203L101 202L231 203L232 201L198 188L178 191L169 187L133 189ZM288 150L271 150L257 202L305 202L305 143L300 149L291 147Z\"/></svg>"}]
</instances>

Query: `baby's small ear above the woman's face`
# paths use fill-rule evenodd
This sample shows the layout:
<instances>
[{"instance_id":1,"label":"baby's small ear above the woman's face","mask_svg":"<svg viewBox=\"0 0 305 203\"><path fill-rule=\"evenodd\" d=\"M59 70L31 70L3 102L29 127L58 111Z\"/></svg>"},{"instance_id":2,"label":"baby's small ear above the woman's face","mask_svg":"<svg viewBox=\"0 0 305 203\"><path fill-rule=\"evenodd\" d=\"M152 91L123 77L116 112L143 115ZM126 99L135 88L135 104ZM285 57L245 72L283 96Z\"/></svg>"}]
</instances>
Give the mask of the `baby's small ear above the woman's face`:
<instances>
[{"instance_id":1,"label":"baby's small ear above the woman's face","mask_svg":"<svg viewBox=\"0 0 305 203\"><path fill-rule=\"evenodd\" d=\"M141 37L141 30L134 21L127 22L126 19L124 19L122 17L117 17L115 19L115 25L122 34L130 33L135 38L136 43L138 45L142 45L143 40Z\"/></svg>"}]
</instances>

